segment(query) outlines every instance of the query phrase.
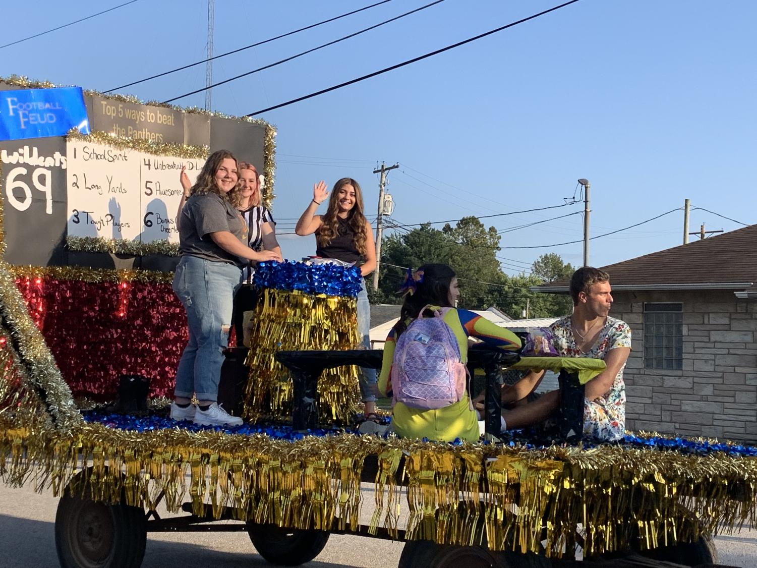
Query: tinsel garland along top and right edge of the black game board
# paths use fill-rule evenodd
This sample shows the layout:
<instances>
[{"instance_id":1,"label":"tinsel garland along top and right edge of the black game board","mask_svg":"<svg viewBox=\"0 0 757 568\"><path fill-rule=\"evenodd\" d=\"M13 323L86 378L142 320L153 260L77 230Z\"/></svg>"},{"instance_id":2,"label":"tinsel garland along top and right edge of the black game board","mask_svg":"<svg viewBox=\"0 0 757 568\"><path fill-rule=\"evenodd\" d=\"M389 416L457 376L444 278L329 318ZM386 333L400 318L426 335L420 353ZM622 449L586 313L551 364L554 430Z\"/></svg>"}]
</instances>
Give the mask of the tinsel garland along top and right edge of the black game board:
<instances>
[{"instance_id":1,"label":"tinsel garland along top and right edge of the black game board","mask_svg":"<svg viewBox=\"0 0 757 568\"><path fill-rule=\"evenodd\" d=\"M22 87L23 89L52 89L61 85L55 85L50 81L37 81L32 80L26 76L11 75L8 77L0 76L0 82L8 83L8 85L14 85ZM266 208L273 211L273 199L276 195L273 193L274 181L276 177L276 126L269 123L267 120L257 117L236 117L232 114L225 114L217 111L206 111L204 108L198 107L180 107L178 105L167 105L158 101L142 101L133 95L119 95L117 93L103 93L92 89L84 89L84 94L89 96L100 96L104 98L110 98L114 101L128 102L135 105L151 105L155 107L170 108L173 111L185 112L190 114L202 114L209 117L228 118L230 120L244 120L251 124L257 124L263 126L265 129L265 135L263 139L263 175L266 176L266 186L263 191L263 202Z\"/></svg>"}]
</instances>

